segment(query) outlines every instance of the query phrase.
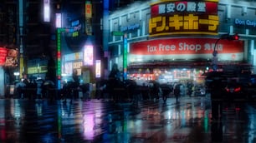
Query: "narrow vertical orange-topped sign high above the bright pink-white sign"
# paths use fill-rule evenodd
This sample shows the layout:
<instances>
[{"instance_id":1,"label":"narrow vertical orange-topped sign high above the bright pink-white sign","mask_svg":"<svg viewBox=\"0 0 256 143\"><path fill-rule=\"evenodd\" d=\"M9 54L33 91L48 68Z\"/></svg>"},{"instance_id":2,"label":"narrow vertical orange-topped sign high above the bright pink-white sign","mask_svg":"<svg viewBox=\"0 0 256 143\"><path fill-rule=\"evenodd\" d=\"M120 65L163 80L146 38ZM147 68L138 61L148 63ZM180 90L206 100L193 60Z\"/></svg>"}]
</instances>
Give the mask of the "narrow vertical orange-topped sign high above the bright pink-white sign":
<instances>
[{"instance_id":1,"label":"narrow vertical orange-topped sign high above the bright pink-white sign","mask_svg":"<svg viewBox=\"0 0 256 143\"><path fill-rule=\"evenodd\" d=\"M92 35L92 4L90 1L85 1L85 34Z\"/></svg>"}]
</instances>

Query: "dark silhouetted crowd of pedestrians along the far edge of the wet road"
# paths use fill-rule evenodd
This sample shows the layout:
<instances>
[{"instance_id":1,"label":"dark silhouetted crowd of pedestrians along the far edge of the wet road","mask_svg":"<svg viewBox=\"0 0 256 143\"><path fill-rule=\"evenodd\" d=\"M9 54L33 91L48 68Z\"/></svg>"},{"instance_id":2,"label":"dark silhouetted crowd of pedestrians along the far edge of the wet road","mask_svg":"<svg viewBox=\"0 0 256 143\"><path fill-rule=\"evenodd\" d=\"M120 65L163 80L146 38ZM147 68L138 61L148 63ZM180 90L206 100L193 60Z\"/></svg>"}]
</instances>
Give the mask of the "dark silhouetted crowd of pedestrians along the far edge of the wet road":
<instances>
[{"instance_id":1,"label":"dark silhouetted crowd of pedestrians along the far edge of the wet road","mask_svg":"<svg viewBox=\"0 0 256 143\"><path fill-rule=\"evenodd\" d=\"M53 81L27 78L16 83L15 91L18 98L32 100L42 98L50 100L61 99L63 101L70 99L72 101L73 99L81 98L84 101L90 101L93 96L92 91L95 90L97 99L104 98L108 101L116 102L125 100L159 100L161 96L175 96L176 101L179 102L180 96L192 96L192 92L195 91L195 85L192 81L177 81L164 85L157 81L148 81L140 85L136 80L122 80L117 64L113 64L108 80L103 85L97 83L93 86L92 83L81 83L78 72L74 70L72 80L64 82L62 89L58 92L56 92ZM94 89L94 87L96 88Z\"/></svg>"}]
</instances>

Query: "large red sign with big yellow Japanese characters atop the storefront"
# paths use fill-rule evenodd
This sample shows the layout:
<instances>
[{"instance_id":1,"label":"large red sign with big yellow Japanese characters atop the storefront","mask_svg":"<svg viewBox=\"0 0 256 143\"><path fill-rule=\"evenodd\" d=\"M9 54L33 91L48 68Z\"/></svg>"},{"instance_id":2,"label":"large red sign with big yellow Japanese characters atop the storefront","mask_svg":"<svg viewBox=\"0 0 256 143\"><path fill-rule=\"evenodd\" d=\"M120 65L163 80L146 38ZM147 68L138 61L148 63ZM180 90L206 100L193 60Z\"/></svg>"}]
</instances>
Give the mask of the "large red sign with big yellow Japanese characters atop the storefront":
<instances>
[{"instance_id":1,"label":"large red sign with big yellow Japanese characters atop the storefront","mask_svg":"<svg viewBox=\"0 0 256 143\"><path fill-rule=\"evenodd\" d=\"M151 4L149 34L218 34L218 0L163 1Z\"/></svg>"}]
</instances>

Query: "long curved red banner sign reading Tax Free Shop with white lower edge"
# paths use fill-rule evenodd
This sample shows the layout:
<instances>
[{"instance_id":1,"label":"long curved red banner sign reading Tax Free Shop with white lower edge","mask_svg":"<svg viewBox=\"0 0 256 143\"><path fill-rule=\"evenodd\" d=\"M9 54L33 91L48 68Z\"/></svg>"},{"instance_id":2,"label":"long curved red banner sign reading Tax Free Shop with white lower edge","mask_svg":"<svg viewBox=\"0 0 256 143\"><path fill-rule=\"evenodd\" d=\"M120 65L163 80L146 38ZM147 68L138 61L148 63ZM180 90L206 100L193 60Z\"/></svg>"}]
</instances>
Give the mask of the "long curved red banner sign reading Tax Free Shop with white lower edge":
<instances>
[{"instance_id":1,"label":"long curved red banner sign reading Tax Free Shop with white lower edge","mask_svg":"<svg viewBox=\"0 0 256 143\"><path fill-rule=\"evenodd\" d=\"M214 38L172 38L131 43L130 61L208 60L212 57ZM221 40L216 46L219 61L243 61L243 41Z\"/></svg>"}]
</instances>

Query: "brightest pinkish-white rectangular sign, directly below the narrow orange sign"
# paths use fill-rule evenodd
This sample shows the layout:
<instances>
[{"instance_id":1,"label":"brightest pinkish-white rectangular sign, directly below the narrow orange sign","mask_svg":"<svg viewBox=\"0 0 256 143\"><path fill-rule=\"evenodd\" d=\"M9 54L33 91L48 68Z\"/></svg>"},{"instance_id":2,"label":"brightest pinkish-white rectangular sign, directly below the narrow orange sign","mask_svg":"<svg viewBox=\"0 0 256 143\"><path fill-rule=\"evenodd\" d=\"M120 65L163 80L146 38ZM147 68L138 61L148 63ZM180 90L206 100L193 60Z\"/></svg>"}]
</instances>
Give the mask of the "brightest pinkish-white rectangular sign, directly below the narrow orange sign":
<instances>
[{"instance_id":1,"label":"brightest pinkish-white rectangular sign, directly below the narrow orange sign","mask_svg":"<svg viewBox=\"0 0 256 143\"><path fill-rule=\"evenodd\" d=\"M91 45L84 46L84 66L92 66L94 64L94 47Z\"/></svg>"}]
</instances>

